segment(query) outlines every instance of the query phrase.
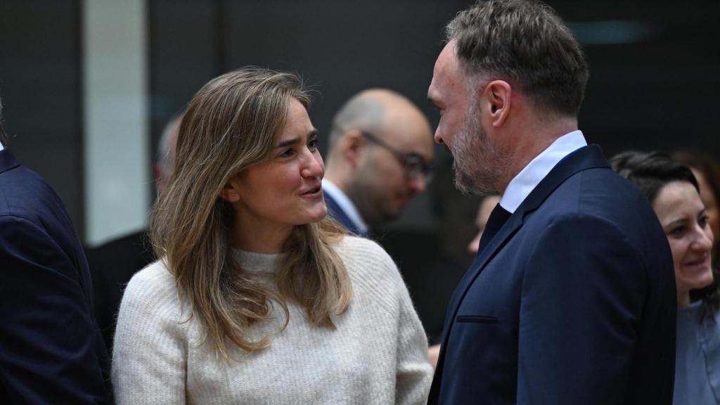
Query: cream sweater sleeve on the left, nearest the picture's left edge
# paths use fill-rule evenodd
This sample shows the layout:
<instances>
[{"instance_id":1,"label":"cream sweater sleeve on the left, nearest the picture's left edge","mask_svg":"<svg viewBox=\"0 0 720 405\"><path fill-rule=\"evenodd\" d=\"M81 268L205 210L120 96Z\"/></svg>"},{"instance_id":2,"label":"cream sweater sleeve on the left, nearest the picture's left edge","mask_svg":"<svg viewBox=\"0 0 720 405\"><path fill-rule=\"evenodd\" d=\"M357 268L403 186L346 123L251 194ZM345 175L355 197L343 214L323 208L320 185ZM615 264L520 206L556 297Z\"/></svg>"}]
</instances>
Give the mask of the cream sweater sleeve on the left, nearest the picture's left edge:
<instances>
[{"instance_id":1,"label":"cream sweater sleeve on the left, nearest the picture's left edge","mask_svg":"<svg viewBox=\"0 0 720 405\"><path fill-rule=\"evenodd\" d=\"M174 277L159 262L125 289L115 332L112 382L117 404L185 404L188 322Z\"/></svg>"}]
</instances>

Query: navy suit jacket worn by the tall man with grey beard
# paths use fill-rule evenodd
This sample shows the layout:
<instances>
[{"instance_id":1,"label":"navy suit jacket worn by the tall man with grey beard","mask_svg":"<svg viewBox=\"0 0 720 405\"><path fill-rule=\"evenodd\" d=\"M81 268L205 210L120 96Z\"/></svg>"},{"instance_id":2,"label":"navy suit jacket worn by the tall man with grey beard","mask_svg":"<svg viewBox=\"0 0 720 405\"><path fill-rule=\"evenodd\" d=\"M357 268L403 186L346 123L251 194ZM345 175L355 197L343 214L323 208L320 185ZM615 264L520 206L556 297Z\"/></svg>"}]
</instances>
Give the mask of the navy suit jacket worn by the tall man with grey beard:
<instances>
[{"instance_id":1,"label":"navy suit jacket worn by the tall man with grey beard","mask_svg":"<svg viewBox=\"0 0 720 405\"><path fill-rule=\"evenodd\" d=\"M459 282L428 404L671 404L676 299L646 198L581 148Z\"/></svg>"}]
</instances>

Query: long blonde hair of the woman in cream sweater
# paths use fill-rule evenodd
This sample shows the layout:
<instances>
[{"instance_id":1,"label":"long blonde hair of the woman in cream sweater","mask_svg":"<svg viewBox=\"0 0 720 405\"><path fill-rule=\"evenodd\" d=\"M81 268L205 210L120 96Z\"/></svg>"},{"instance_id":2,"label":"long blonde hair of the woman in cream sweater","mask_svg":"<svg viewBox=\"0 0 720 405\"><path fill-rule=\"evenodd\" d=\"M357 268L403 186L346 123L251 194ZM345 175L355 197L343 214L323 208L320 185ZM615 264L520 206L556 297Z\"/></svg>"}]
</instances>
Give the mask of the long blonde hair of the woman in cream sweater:
<instances>
[{"instance_id":1,"label":"long blonde hair of the woman in cream sweater","mask_svg":"<svg viewBox=\"0 0 720 405\"><path fill-rule=\"evenodd\" d=\"M243 272L232 257L233 208L220 197L228 179L268 159L284 128L289 102L310 102L294 74L242 68L205 84L185 112L170 184L150 216L150 239L176 277L181 296L203 326L203 342L229 357L226 339L247 351L269 337L252 340L248 327L272 317L270 300L307 309L316 326L334 327L331 315L346 310L351 283L330 247L343 236L328 219L295 226L276 274L279 294Z\"/></svg>"}]
</instances>

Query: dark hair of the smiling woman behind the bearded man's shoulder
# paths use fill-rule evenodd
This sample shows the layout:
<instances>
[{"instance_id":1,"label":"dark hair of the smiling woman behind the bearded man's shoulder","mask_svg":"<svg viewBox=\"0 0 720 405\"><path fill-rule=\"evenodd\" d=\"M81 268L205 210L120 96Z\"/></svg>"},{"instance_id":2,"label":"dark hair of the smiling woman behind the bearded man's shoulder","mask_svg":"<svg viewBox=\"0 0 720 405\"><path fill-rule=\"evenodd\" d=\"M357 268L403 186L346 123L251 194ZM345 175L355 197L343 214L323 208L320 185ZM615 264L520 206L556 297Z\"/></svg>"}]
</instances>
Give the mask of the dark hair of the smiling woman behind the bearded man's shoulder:
<instances>
[{"instance_id":1,"label":"dark hair of the smiling woman behind the bearded man's shoulder","mask_svg":"<svg viewBox=\"0 0 720 405\"><path fill-rule=\"evenodd\" d=\"M615 172L629 179L647 197L652 205L662 187L671 182L689 182L698 192L698 180L688 166L674 161L666 153L659 151L626 151L610 159ZM711 316L720 308L718 294L718 273L713 269L713 283L706 288L690 291L690 301L703 301L704 316Z\"/></svg>"}]
</instances>

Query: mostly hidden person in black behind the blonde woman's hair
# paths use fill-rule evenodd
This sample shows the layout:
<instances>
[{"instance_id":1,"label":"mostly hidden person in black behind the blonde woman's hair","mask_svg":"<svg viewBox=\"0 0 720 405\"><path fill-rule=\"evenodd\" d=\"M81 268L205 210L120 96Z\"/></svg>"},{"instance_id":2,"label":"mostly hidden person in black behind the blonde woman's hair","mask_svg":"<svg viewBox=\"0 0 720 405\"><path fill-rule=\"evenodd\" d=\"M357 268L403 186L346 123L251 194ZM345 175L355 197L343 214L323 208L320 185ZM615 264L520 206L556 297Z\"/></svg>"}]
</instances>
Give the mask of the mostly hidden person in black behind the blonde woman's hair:
<instances>
[{"instance_id":1,"label":"mostly hidden person in black behind the blonde woman's hair","mask_svg":"<svg viewBox=\"0 0 720 405\"><path fill-rule=\"evenodd\" d=\"M168 121L158 141L158 154L153 174L158 195L165 190L170 180L175 161L175 143L182 121L182 113ZM95 315L105 339L105 345L112 348L117 311L120 308L122 291L138 270L155 261L153 249L148 240L148 230L141 229L106 242L95 248L86 249L90 274L95 286Z\"/></svg>"}]
</instances>

